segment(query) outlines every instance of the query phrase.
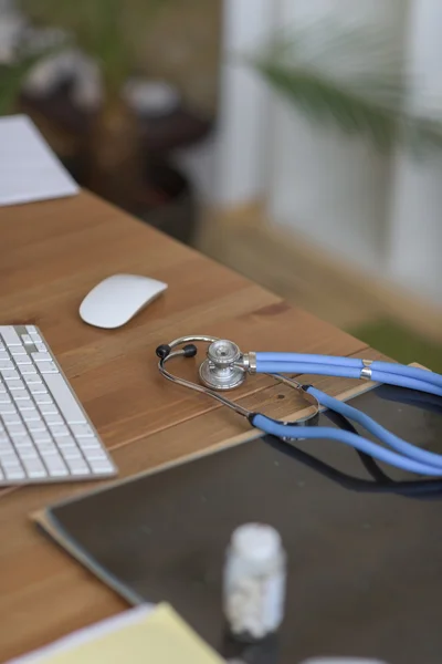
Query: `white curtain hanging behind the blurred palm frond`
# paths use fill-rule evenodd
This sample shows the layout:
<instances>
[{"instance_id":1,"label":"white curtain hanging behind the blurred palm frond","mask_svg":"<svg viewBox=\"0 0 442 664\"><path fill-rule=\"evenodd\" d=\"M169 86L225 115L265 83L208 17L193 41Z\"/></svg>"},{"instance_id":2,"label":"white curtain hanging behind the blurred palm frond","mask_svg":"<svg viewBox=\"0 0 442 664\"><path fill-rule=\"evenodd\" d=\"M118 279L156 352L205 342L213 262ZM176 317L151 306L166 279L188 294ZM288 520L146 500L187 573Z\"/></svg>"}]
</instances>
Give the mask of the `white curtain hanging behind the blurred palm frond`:
<instances>
[{"instance_id":1,"label":"white curtain hanging behind the blurred palm frond","mask_svg":"<svg viewBox=\"0 0 442 664\"><path fill-rule=\"evenodd\" d=\"M227 0L218 201L264 198L273 224L442 304L441 157L380 156L313 125L231 60L277 27L330 14L388 30L419 74L410 104L419 107L425 90L442 117L440 0Z\"/></svg>"}]
</instances>

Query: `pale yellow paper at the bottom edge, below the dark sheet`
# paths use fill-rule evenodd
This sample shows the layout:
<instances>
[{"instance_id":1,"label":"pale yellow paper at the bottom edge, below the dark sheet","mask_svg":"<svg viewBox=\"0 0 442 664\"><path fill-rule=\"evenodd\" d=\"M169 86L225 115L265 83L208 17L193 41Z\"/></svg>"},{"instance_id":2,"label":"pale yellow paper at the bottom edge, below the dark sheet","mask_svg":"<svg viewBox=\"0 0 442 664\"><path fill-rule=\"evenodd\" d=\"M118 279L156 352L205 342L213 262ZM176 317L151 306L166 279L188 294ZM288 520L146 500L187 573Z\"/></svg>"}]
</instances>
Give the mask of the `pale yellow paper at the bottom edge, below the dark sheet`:
<instances>
[{"instance_id":1,"label":"pale yellow paper at the bottom edge, below the dark sheet","mask_svg":"<svg viewBox=\"0 0 442 664\"><path fill-rule=\"evenodd\" d=\"M35 664L225 664L168 604Z\"/></svg>"}]
</instances>

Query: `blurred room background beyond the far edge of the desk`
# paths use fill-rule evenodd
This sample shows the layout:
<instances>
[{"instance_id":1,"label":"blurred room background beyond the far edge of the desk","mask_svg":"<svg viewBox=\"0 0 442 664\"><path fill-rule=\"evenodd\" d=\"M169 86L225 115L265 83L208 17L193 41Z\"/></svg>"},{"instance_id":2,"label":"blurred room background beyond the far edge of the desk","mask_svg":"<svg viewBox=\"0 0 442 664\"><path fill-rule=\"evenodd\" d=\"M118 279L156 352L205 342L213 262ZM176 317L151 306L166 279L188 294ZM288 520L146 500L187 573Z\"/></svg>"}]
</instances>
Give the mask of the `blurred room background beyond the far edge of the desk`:
<instances>
[{"instance_id":1,"label":"blurred room background beyond the far edge of the desk","mask_svg":"<svg viewBox=\"0 0 442 664\"><path fill-rule=\"evenodd\" d=\"M0 113L140 220L442 371L441 30L440 0L0 0Z\"/></svg>"}]
</instances>

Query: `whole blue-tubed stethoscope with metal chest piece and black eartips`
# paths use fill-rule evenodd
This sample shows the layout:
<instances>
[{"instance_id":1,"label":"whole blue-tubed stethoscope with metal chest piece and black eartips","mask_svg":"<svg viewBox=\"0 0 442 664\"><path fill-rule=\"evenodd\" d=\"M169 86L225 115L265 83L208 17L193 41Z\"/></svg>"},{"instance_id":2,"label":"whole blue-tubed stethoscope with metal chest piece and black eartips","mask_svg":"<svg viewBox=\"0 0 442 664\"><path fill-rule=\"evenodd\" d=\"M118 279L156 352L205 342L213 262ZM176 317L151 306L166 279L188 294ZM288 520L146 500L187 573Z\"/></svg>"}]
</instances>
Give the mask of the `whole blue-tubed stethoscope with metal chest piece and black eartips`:
<instances>
[{"instance_id":1,"label":"whole blue-tubed stethoscope with metal chest piece and black eartips","mask_svg":"<svg viewBox=\"0 0 442 664\"><path fill-rule=\"evenodd\" d=\"M201 384L192 383L171 374L166 363L173 357L194 357L198 349L196 343L208 343L206 360L199 367ZM179 347L181 346L181 347ZM173 350L173 349L179 350ZM159 371L168 380L201 392L217 400L224 406L243 415L257 429L282 438L283 440L299 440L326 438L349 445L359 452L385 461L397 468L418 475L442 477L442 455L420 449L396 436L375 419L357 408L337 400L313 385L301 383L282 374L317 374L361 378L407 387L427 394L442 397L442 376L424 369L404 366L389 362L357 360L352 357L335 357L327 355L309 355L302 353L242 353L232 341L214 336L194 335L181 336L157 347ZM277 381L299 391L314 406L314 415L323 408L328 408L362 426L376 436L383 445L372 443L357 433L324 426L308 426L272 419L261 413L248 411L240 404L225 398L221 392L239 387L248 374L261 373L272 375ZM308 419L312 415L308 416ZM388 449L390 448L390 449Z\"/></svg>"}]
</instances>

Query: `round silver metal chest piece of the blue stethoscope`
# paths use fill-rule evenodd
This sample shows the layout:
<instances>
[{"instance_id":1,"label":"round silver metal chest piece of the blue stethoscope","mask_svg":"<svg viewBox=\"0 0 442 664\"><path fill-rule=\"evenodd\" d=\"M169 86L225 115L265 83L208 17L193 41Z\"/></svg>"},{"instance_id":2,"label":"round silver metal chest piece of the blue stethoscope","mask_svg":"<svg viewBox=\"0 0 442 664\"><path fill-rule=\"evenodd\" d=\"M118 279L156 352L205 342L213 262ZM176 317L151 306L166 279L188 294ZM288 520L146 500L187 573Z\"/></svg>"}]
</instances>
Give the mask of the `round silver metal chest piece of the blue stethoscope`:
<instances>
[{"instance_id":1,"label":"round silver metal chest piece of the blue stethoscope","mask_svg":"<svg viewBox=\"0 0 442 664\"><path fill-rule=\"evenodd\" d=\"M224 339L214 341L199 369L201 382L212 390L239 387L246 376L244 367L240 365L241 360L242 353L235 343Z\"/></svg>"}]
</instances>

